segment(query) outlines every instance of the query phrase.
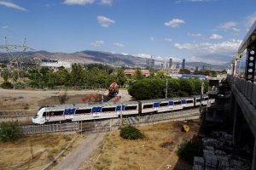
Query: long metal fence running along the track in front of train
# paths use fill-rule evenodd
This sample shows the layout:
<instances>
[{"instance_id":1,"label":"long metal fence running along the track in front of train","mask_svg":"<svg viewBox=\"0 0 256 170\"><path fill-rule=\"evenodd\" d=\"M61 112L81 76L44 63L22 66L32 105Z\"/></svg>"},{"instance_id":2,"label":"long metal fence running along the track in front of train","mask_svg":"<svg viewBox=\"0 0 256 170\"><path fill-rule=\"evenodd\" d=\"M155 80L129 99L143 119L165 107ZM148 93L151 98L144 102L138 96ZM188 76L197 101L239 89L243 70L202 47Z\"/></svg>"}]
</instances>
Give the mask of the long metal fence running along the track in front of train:
<instances>
[{"instance_id":1,"label":"long metal fence running along the track in front of train","mask_svg":"<svg viewBox=\"0 0 256 170\"><path fill-rule=\"evenodd\" d=\"M77 133L102 133L109 132L117 129L121 123L123 125L145 125L154 124L158 122L170 122L170 121L183 121L189 119L199 118L200 113L198 109L173 111L161 114L152 114L147 116L132 116L115 119L108 119L95 122L69 122L61 124L46 124L46 125L29 125L21 126L21 130L24 134L38 134L38 133L59 133L59 132L77 132Z\"/></svg>"}]
</instances>

